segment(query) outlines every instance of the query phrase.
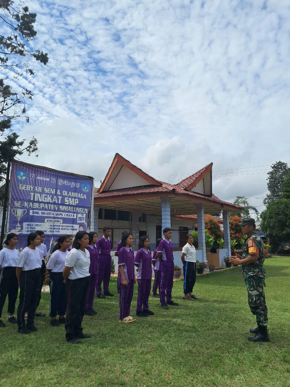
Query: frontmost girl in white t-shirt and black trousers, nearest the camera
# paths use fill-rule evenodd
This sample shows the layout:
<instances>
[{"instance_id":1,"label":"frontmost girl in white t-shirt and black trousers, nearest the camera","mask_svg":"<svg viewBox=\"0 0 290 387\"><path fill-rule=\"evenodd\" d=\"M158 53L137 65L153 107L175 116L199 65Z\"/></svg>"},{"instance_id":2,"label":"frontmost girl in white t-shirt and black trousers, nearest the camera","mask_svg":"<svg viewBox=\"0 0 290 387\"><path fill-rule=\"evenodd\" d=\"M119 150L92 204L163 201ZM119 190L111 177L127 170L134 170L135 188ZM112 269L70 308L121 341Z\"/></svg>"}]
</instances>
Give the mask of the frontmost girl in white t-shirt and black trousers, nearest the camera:
<instances>
[{"instance_id":1,"label":"frontmost girl in white t-shirt and black trousers, nearest the camera","mask_svg":"<svg viewBox=\"0 0 290 387\"><path fill-rule=\"evenodd\" d=\"M65 317L65 338L72 344L91 335L82 332L82 320L85 313L85 302L90 285L89 234L78 231L73 241L72 250L65 259L63 278L67 289L67 315Z\"/></svg>"}]
</instances>

